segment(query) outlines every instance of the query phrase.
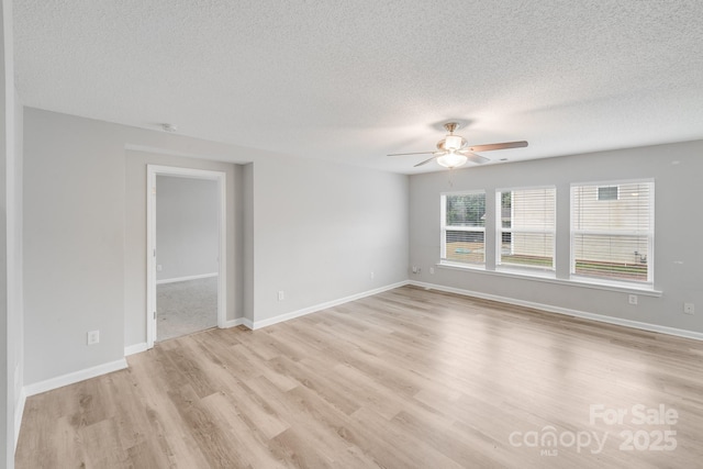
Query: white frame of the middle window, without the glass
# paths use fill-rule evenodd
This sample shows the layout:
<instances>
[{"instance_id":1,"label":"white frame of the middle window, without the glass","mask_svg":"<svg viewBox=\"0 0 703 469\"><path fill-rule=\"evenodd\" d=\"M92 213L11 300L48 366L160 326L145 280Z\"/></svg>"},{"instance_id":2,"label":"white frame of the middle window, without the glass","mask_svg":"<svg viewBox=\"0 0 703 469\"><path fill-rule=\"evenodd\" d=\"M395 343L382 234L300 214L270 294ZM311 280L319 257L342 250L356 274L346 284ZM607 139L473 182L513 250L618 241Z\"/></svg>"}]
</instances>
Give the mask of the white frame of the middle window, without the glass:
<instances>
[{"instance_id":1,"label":"white frame of the middle window, without the glass","mask_svg":"<svg viewBox=\"0 0 703 469\"><path fill-rule=\"evenodd\" d=\"M537 230L537 228L522 228L515 230L512 226L510 228L503 227L503 203L502 203L502 194L504 192L515 191L527 191L527 190L540 190L540 189L551 189L553 198L554 198L554 225L550 231L547 230ZM511 221L513 220L514 206L511 203ZM503 233L526 233L526 234L544 234L551 235L551 266L531 266L531 265L520 265L520 264L510 264L502 263L502 245L503 245ZM524 270L525 273L537 273L537 272L548 272L556 273L557 268L557 187L556 186L522 186L522 187L509 187L509 188L499 188L495 189L495 268L500 270L514 270L520 269Z\"/></svg>"}]
</instances>

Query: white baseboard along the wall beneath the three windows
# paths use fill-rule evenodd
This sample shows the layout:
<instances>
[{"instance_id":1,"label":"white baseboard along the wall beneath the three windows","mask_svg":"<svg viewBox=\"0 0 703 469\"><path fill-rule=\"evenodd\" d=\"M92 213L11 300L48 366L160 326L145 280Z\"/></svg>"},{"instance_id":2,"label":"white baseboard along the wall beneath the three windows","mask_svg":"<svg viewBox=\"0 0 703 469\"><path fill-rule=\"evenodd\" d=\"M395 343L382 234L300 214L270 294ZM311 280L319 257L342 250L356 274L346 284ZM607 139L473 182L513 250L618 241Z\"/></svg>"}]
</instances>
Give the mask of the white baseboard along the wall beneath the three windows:
<instances>
[{"instance_id":1,"label":"white baseboard along the wall beneath the three windows","mask_svg":"<svg viewBox=\"0 0 703 469\"><path fill-rule=\"evenodd\" d=\"M444 286L440 286L440 284L425 283L425 282L421 282L421 281L415 281L415 280L411 280L408 283L412 284L412 286L415 286L415 287L427 288L427 289L432 289L432 290L446 291L448 293L457 293L457 294L462 294L462 295L466 295L466 297L480 298L480 299L483 299L483 300L500 301L501 303L515 304L517 306L534 308L536 310L547 311L549 313L565 314L565 315L568 315L568 316L581 317L581 319L584 319L584 320L598 321L598 322L601 322L601 323L615 324L615 325L618 325L618 326L632 327L632 328L637 328L637 330L641 330L641 331L657 332L657 333L660 333L660 334L674 335L677 337L685 337L685 338L693 338L695 340L703 340L703 334L698 333L698 332L693 332L693 331L687 331L687 330L681 330L681 328L676 328L676 327L668 327L668 326L660 326L658 324L643 323L643 322L639 322L639 321L623 320L623 319L620 319L620 317L606 316L606 315L603 315L603 314L589 313L589 312L585 312L585 311L571 310L571 309L568 309L568 308L554 306L554 305L550 305L550 304L535 303L535 302L532 302L532 301L516 300L514 298L500 297L500 295L496 295L496 294L481 293L481 292L478 292L478 291L462 290L462 289L459 289L459 288L444 287Z\"/></svg>"}]
</instances>

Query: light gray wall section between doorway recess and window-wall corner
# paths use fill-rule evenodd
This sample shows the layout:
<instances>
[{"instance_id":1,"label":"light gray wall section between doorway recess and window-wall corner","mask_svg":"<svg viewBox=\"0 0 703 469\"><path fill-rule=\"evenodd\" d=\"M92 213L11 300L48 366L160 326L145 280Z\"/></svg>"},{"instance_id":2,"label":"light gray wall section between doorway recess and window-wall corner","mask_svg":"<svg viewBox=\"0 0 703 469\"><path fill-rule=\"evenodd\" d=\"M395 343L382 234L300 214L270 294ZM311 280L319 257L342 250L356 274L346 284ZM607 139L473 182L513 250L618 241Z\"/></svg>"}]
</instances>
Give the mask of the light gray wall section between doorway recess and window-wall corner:
<instances>
[{"instance_id":1,"label":"light gray wall section between doorway recess and window-wall corner","mask_svg":"<svg viewBox=\"0 0 703 469\"><path fill-rule=\"evenodd\" d=\"M255 322L408 279L406 176L271 158L253 181Z\"/></svg>"}]
</instances>

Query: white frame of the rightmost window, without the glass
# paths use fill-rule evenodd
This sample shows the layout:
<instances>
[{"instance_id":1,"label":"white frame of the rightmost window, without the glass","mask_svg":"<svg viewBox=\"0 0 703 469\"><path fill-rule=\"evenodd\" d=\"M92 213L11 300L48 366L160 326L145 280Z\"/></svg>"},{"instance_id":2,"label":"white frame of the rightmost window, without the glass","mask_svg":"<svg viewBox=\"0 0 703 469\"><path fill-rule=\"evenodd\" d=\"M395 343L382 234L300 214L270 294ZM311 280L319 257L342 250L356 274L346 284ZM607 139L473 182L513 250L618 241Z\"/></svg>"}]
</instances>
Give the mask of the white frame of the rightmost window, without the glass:
<instances>
[{"instance_id":1,"label":"white frame of the rightmost window, without the glass","mask_svg":"<svg viewBox=\"0 0 703 469\"><path fill-rule=\"evenodd\" d=\"M576 197L574 189L579 187L595 187L595 202L607 203L621 201L621 186L623 185L648 185L648 217L649 224L646 233L641 231L595 231L595 230L576 230ZM601 187L617 187L617 199L601 200L599 197L599 188ZM569 278L571 280L584 283L598 283L605 286L640 286L647 289L654 289L654 275L655 275L655 179L618 179L607 181L583 181L571 182L569 187ZM583 275L576 272L576 237L578 235L594 235L594 236L647 236L647 280L635 280L625 278L614 278L596 275Z\"/></svg>"}]
</instances>

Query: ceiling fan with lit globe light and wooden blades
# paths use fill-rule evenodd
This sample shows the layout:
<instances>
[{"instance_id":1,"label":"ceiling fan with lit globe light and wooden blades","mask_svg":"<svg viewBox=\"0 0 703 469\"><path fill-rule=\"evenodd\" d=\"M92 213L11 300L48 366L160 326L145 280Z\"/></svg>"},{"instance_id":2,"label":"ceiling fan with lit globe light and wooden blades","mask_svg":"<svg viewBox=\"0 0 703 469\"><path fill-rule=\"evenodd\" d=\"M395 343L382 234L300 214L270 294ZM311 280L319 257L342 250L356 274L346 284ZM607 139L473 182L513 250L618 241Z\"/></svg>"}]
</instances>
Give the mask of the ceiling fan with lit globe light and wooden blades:
<instances>
[{"instance_id":1,"label":"ceiling fan with lit globe light and wooden blades","mask_svg":"<svg viewBox=\"0 0 703 469\"><path fill-rule=\"evenodd\" d=\"M505 148L522 148L527 146L527 142L505 142L505 143L491 143L486 145L469 146L469 143L460 135L454 135L454 131L459 129L459 124L456 122L447 122L444 127L449 132L443 139L437 142L436 152L416 152L416 153L392 153L388 156L405 156L405 155L427 155L432 154L432 158L425 159L422 163L415 165L425 165L433 159L437 160L437 164L445 168L454 169L466 161L483 164L490 161L490 159L477 155L475 152L491 152L494 149Z\"/></svg>"}]
</instances>

